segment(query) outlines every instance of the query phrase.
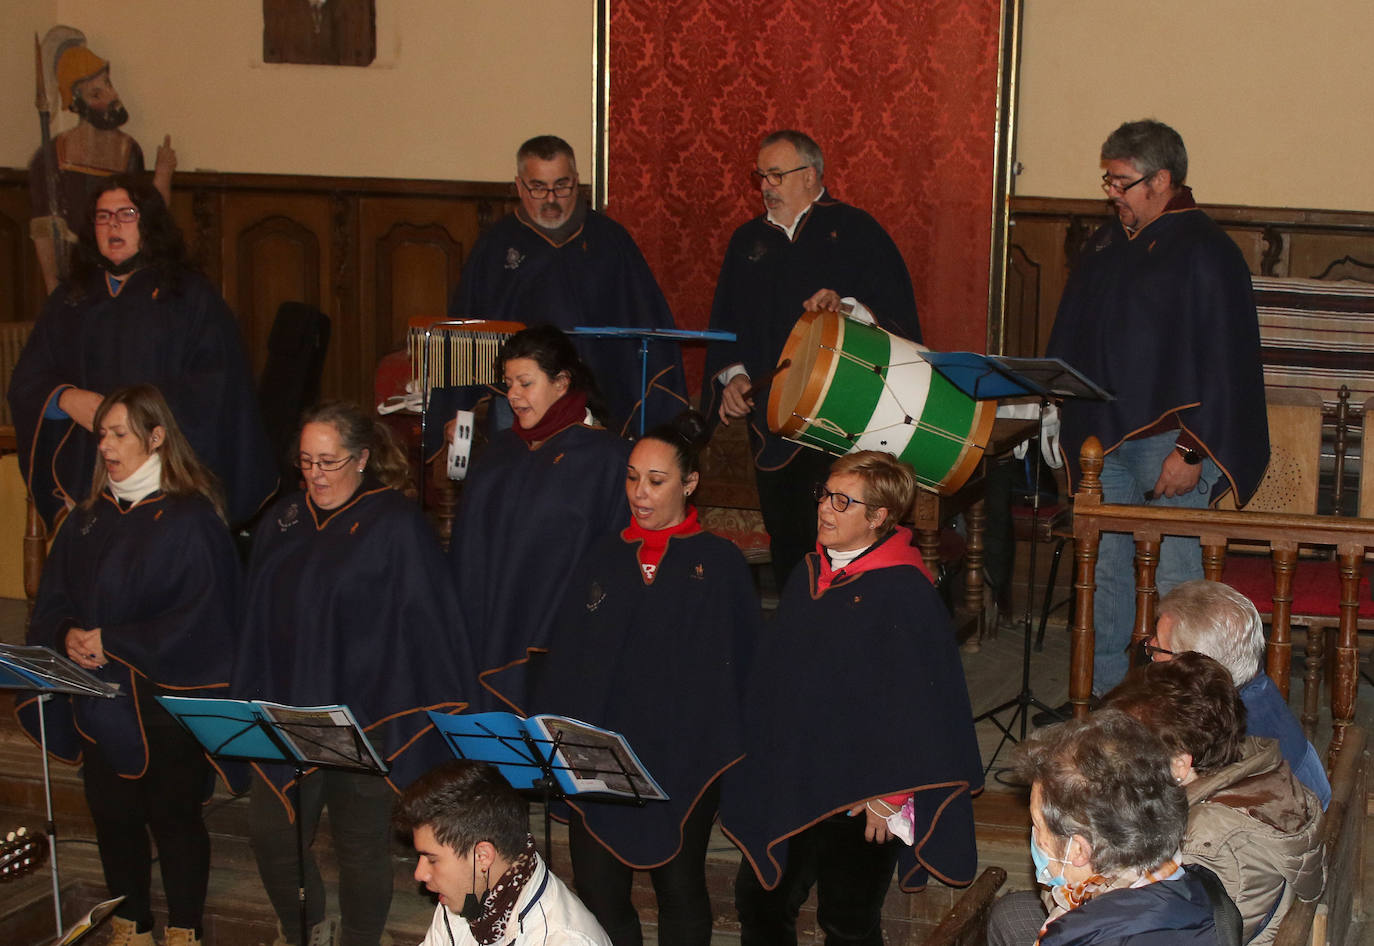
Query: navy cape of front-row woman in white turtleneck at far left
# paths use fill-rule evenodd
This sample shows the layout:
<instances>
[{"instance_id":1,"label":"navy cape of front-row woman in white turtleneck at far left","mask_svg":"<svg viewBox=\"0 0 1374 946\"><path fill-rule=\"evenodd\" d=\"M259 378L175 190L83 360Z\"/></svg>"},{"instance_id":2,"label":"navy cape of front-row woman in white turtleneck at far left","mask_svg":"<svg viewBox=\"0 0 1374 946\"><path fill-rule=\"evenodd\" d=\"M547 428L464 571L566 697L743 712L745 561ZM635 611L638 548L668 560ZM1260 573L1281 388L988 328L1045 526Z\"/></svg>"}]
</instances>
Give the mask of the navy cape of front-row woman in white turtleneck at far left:
<instances>
[{"instance_id":1,"label":"navy cape of front-row woman in white turtleneck at far left","mask_svg":"<svg viewBox=\"0 0 1374 946\"><path fill-rule=\"evenodd\" d=\"M104 492L93 508L74 509L44 564L26 640L66 655L70 627L100 627L109 659L92 673L122 695L54 696L44 708L48 751L73 765L99 751L121 776L142 776L144 722L162 713L153 696L225 692L238 592L229 531L203 497L158 492L121 507ZM37 740L37 697L18 703Z\"/></svg>"}]
</instances>

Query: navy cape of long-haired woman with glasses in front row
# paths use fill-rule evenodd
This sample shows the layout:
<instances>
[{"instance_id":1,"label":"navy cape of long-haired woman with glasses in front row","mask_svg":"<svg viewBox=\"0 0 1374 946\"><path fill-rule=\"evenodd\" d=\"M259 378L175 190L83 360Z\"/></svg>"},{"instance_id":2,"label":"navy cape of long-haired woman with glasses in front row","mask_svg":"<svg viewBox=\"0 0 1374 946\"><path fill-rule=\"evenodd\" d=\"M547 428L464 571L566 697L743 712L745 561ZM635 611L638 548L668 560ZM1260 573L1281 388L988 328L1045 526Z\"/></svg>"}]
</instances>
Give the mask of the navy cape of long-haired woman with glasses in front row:
<instances>
[{"instance_id":1,"label":"navy cape of long-haired woman with glasses in front row","mask_svg":"<svg viewBox=\"0 0 1374 946\"><path fill-rule=\"evenodd\" d=\"M368 478L327 511L294 493L258 520L235 697L346 704L400 791L451 758L426 710L463 710L470 667L438 542L400 492ZM291 768L254 768L290 810Z\"/></svg>"}]
</instances>

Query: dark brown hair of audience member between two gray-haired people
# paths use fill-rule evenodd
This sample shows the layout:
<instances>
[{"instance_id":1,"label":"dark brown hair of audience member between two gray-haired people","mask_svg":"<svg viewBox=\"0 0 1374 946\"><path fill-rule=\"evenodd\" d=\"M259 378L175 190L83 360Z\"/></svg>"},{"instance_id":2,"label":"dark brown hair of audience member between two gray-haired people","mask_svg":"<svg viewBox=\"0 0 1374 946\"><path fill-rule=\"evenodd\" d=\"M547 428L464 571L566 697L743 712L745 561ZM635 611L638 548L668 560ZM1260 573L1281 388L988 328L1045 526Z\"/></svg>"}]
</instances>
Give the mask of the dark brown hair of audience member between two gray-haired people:
<instances>
[{"instance_id":1,"label":"dark brown hair of audience member between two gray-haired people","mask_svg":"<svg viewBox=\"0 0 1374 946\"><path fill-rule=\"evenodd\" d=\"M1150 728L1169 752L1187 752L1193 768L1213 772L1241 758L1245 703L1231 674L1206 654L1143 663L1106 695L1110 706Z\"/></svg>"}]
</instances>

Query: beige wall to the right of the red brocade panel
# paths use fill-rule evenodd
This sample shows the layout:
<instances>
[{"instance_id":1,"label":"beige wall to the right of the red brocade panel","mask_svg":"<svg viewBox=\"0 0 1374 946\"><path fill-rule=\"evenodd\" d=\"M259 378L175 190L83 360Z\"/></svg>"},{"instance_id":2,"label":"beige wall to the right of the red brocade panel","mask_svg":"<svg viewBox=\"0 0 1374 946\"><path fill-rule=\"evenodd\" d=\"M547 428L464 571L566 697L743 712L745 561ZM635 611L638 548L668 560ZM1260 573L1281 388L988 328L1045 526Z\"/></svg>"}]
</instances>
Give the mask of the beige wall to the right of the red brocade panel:
<instances>
[{"instance_id":1,"label":"beige wall to the right of the red brocade panel","mask_svg":"<svg viewBox=\"0 0 1374 946\"><path fill-rule=\"evenodd\" d=\"M1370 0L1025 0L1017 194L1101 196L1123 121L1189 147L1198 200L1374 210Z\"/></svg>"}]
</instances>

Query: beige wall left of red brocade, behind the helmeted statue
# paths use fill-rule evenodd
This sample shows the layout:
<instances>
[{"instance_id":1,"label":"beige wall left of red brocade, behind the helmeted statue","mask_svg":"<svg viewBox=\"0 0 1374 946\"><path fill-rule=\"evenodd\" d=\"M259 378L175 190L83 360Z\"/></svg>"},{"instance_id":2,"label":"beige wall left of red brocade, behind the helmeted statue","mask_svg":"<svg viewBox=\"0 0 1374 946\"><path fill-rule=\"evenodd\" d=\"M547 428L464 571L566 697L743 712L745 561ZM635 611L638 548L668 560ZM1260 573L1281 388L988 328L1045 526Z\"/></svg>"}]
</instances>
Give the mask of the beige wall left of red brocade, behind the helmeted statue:
<instances>
[{"instance_id":1,"label":"beige wall left of red brocade, behind the helmeted statue","mask_svg":"<svg viewBox=\"0 0 1374 946\"><path fill-rule=\"evenodd\" d=\"M504 180L551 132L589 166L594 10L376 0L376 62L354 69L264 65L257 0L0 0L0 166L37 144L33 33L55 23L111 62L150 162L170 132L185 170Z\"/></svg>"}]
</instances>

